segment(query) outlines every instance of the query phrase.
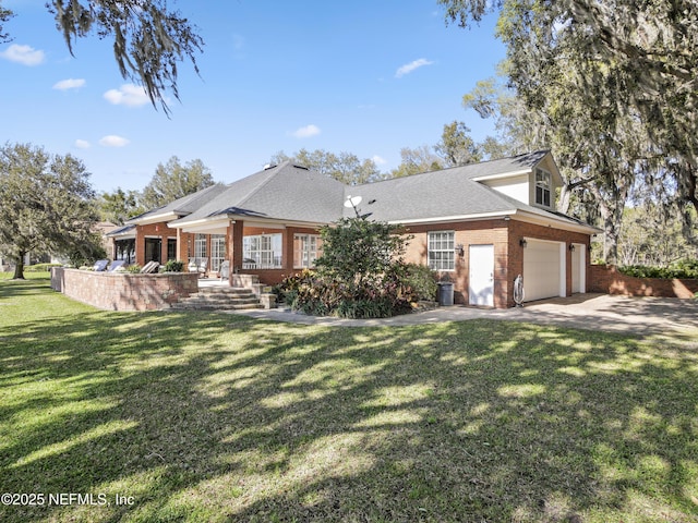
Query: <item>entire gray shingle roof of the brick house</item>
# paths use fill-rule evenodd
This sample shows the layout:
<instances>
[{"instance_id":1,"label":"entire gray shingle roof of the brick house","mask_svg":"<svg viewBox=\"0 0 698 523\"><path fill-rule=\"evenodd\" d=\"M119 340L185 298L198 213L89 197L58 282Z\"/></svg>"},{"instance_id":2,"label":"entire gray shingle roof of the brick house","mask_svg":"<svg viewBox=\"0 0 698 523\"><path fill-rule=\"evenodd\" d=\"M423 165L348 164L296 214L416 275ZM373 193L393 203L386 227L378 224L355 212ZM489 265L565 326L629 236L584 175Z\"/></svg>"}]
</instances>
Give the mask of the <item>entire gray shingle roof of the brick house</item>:
<instances>
[{"instance_id":1,"label":"entire gray shingle roof of the brick house","mask_svg":"<svg viewBox=\"0 0 698 523\"><path fill-rule=\"evenodd\" d=\"M478 215L534 214L555 221L580 223L559 212L546 211L506 196L476 180L532 171L550 151L471 163L406 178L347 186L286 161L229 185L216 185L142 216L176 212L182 218L172 227L216 220L221 217L273 219L305 223L330 223L354 216L344 203L361 196L361 214L393 222L429 222L465 219Z\"/></svg>"}]
</instances>

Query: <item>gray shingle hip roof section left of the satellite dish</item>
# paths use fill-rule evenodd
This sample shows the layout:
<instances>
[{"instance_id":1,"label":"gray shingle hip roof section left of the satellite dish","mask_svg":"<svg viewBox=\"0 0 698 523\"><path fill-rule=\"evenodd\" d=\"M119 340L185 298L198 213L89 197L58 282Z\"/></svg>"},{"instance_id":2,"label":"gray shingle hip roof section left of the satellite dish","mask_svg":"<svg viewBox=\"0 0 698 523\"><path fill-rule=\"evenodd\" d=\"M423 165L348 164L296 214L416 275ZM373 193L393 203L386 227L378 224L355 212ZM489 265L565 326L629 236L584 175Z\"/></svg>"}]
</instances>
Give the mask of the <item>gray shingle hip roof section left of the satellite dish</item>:
<instances>
[{"instance_id":1,"label":"gray shingle hip roof section left of the satellite dish","mask_svg":"<svg viewBox=\"0 0 698 523\"><path fill-rule=\"evenodd\" d=\"M345 185L285 161L231 183L173 226L227 216L328 223L341 217Z\"/></svg>"}]
</instances>

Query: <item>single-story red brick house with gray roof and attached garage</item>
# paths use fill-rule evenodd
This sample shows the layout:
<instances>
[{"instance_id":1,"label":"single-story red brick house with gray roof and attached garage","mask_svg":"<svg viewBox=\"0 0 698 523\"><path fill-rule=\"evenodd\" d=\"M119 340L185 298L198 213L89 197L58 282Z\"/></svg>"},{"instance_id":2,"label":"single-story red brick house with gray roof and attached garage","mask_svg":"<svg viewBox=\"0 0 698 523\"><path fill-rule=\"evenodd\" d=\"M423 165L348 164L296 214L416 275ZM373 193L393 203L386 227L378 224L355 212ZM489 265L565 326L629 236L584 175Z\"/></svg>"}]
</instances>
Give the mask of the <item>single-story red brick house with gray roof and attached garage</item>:
<instances>
[{"instance_id":1,"label":"single-story red brick house with gray roof and attached garage","mask_svg":"<svg viewBox=\"0 0 698 523\"><path fill-rule=\"evenodd\" d=\"M407 260L454 282L456 303L514 305L568 296L590 287L590 236L600 232L555 210L562 180L550 151L347 186L301 166L270 166L214 185L130 221L136 262L224 260L232 273L272 284L321 254L318 228L354 215L401 224ZM360 198L359 198L360 197Z\"/></svg>"}]
</instances>

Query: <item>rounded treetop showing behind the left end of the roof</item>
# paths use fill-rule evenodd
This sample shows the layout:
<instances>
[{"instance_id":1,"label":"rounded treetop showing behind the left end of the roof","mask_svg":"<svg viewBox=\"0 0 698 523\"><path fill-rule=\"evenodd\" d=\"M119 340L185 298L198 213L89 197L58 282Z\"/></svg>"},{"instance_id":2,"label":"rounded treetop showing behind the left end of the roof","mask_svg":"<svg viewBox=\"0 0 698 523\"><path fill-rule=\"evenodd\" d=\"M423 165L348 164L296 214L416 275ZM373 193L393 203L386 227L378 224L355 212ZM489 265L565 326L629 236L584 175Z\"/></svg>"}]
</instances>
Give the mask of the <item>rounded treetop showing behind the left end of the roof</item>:
<instances>
[{"instance_id":1,"label":"rounded treetop showing behind the left end of the roof","mask_svg":"<svg viewBox=\"0 0 698 523\"><path fill-rule=\"evenodd\" d=\"M161 207L214 184L210 170L196 159L182 166L177 156L167 163L158 163L151 182L143 190L145 208Z\"/></svg>"}]
</instances>

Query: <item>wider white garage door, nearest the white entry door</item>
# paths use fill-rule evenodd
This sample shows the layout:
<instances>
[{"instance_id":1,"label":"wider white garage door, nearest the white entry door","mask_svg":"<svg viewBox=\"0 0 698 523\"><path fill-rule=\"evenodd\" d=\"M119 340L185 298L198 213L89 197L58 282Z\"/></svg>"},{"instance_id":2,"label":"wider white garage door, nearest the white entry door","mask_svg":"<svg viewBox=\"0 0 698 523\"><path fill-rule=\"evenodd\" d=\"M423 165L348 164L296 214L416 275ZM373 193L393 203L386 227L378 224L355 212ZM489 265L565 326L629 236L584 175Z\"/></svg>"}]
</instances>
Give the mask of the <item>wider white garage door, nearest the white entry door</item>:
<instances>
[{"instance_id":1,"label":"wider white garage door, nearest the white entry door","mask_svg":"<svg viewBox=\"0 0 698 523\"><path fill-rule=\"evenodd\" d=\"M526 239L525 302L565 295L565 244Z\"/></svg>"}]
</instances>

